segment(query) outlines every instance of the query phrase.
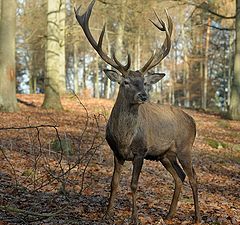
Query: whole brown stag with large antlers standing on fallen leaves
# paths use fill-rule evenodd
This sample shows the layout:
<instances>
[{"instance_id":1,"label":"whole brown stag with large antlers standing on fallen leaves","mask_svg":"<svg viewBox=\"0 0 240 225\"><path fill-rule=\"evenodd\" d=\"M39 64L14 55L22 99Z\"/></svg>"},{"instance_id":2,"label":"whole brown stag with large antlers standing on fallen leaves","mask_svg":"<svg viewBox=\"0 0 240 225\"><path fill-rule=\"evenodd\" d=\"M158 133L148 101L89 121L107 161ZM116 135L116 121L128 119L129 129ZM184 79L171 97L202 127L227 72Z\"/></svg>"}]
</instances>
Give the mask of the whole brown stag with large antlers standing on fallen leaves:
<instances>
[{"instance_id":1,"label":"whole brown stag with large antlers standing on fallen leaves","mask_svg":"<svg viewBox=\"0 0 240 225\"><path fill-rule=\"evenodd\" d=\"M102 48L105 25L98 42L89 29L89 18L95 0L85 13L80 15L80 7L74 8L76 19L86 38L99 56L112 68L104 69L106 76L119 84L119 92L106 125L106 141L113 151L114 171L111 181L111 192L105 218L113 211L114 200L120 182L120 175L125 161L132 161L131 177L133 224L139 224L137 212L138 180L144 160L160 161L174 179L175 188L166 219L176 213L179 195L186 175L193 193L195 223L200 222L197 175L192 165L192 148L196 136L194 119L178 107L160 105L149 101L149 88L160 81L165 73L153 73L157 66L169 53L173 22L165 10L167 24L158 17L158 23L150 20L166 38L160 49L157 49L145 65L136 71L130 69L131 57L122 64L113 53L112 57Z\"/></svg>"}]
</instances>

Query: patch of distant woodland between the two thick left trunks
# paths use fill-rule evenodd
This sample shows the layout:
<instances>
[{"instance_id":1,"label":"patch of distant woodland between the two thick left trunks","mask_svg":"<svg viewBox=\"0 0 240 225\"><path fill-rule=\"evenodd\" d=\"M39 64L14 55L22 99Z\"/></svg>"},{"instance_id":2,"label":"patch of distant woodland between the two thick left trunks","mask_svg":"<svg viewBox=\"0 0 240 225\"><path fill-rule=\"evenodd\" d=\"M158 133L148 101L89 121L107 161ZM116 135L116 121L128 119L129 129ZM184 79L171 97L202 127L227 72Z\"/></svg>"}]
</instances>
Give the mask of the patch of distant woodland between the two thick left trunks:
<instances>
[{"instance_id":1,"label":"patch of distant woodland between the two thick left trunks","mask_svg":"<svg viewBox=\"0 0 240 225\"><path fill-rule=\"evenodd\" d=\"M17 79L18 92L43 93L45 44L47 37L47 1L29 0L18 3Z\"/></svg>"}]
</instances>

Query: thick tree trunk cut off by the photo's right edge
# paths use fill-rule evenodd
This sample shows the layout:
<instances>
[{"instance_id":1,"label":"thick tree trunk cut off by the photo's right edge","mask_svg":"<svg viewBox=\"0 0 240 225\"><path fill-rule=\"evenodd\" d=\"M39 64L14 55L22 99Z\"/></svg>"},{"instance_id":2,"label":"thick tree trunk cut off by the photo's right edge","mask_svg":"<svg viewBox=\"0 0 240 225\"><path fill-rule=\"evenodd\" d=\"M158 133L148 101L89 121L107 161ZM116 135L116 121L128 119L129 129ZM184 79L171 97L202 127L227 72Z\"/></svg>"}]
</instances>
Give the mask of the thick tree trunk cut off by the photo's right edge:
<instances>
[{"instance_id":1,"label":"thick tree trunk cut off by the photo's right edge","mask_svg":"<svg viewBox=\"0 0 240 225\"><path fill-rule=\"evenodd\" d=\"M236 44L229 117L240 120L240 0L236 0Z\"/></svg>"}]
</instances>

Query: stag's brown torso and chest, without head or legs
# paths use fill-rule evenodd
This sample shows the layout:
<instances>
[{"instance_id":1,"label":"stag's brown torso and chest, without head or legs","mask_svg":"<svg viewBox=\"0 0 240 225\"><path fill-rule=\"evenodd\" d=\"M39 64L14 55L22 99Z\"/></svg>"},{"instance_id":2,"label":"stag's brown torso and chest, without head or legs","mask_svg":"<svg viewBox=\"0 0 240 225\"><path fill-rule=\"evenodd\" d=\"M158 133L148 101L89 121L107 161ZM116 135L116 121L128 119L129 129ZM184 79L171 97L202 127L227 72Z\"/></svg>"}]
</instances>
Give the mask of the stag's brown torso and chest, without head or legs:
<instances>
[{"instance_id":1,"label":"stag's brown torso and chest, without head or legs","mask_svg":"<svg viewBox=\"0 0 240 225\"><path fill-rule=\"evenodd\" d=\"M195 133L194 120L180 109L154 103L125 106L117 100L106 139L120 161L131 161L134 155L159 161L173 147L191 145Z\"/></svg>"}]
</instances>

